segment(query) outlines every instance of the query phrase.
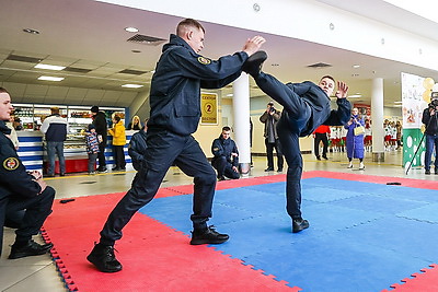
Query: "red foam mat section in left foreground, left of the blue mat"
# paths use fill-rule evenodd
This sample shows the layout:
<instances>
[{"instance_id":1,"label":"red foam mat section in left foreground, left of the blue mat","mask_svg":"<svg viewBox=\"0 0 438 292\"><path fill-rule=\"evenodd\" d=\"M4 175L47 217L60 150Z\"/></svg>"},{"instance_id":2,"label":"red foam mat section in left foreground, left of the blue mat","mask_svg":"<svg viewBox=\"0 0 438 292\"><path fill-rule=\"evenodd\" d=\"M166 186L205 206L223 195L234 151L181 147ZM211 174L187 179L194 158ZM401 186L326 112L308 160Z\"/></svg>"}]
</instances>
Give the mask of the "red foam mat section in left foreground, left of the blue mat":
<instances>
[{"instance_id":1,"label":"red foam mat section in left foreground, left of the blue mat","mask_svg":"<svg viewBox=\"0 0 438 292\"><path fill-rule=\"evenodd\" d=\"M192 246L187 235L140 213L127 224L115 246L123 271L97 271L85 257L123 195L54 203L44 237L54 243L53 256L71 291L299 291L212 247Z\"/></svg>"}]
</instances>

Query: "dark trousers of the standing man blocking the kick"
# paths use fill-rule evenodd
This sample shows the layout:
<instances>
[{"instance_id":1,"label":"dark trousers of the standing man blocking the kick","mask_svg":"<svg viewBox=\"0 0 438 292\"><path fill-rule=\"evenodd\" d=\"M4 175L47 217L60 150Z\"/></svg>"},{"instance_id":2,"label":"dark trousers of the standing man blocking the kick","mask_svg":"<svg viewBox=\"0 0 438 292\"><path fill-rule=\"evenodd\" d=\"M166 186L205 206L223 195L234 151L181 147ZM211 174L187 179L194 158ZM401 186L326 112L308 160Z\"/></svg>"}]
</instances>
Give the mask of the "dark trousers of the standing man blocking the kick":
<instances>
[{"instance_id":1,"label":"dark trousers of the standing man blocking the kick","mask_svg":"<svg viewBox=\"0 0 438 292\"><path fill-rule=\"evenodd\" d=\"M132 215L155 196L169 167L175 163L186 175L194 177L193 214L195 230L206 229L211 217L216 173L198 142L192 136L148 130L145 163L136 174L131 188L110 213L101 231L101 243L114 245ZM177 214L175 214L177 215Z\"/></svg>"}]
</instances>

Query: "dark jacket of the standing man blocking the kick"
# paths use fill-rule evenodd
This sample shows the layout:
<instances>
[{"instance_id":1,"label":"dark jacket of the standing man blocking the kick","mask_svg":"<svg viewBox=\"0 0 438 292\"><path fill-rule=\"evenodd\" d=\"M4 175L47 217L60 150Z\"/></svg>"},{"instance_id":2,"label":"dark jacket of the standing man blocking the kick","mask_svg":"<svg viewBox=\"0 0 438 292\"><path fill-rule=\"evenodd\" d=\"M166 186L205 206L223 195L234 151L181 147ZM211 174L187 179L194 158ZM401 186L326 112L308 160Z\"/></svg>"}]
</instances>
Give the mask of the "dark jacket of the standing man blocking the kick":
<instances>
[{"instance_id":1,"label":"dark jacket of the standing man blocking the kick","mask_svg":"<svg viewBox=\"0 0 438 292\"><path fill-rule=\"evenodd\" d=\"M246 59L244 51L216 61L207 59L172 34L152 77L148 131L195 132L200 118L200 87L220 89L234 81Z\"/></svg>"}]
</instances>

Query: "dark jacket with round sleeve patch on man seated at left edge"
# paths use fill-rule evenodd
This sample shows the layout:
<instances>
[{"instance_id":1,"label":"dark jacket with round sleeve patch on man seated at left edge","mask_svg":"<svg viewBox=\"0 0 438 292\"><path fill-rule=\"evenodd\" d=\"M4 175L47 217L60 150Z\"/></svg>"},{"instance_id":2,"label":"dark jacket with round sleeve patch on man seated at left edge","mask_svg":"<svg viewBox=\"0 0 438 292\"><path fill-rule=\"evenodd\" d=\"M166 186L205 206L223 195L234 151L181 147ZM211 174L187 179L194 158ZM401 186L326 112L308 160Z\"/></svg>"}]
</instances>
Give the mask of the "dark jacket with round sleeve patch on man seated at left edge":
<instances>
[{"instance_id":1,"label":"dark jacket with round sleeve patch on man seated at left edge","mask_svg":"<svg viewBox=\"0 0 438 292\"><path fill-rule=\"evenodd\" d=\"M27 174L12 141L5 136L10 132L0 120L0 200L8 196L35 197L41 192L41 186Z\"/></svg>"}]
</instances>

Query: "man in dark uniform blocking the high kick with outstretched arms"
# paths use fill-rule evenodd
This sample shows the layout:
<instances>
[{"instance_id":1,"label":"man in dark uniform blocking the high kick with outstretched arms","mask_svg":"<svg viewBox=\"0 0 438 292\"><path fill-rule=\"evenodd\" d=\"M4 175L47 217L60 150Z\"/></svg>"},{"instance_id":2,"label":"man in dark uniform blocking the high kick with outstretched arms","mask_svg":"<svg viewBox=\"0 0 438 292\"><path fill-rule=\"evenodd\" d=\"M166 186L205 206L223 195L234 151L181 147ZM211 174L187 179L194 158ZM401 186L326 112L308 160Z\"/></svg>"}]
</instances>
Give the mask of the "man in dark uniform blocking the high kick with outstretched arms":
<instances>
[{"instance_id":1,"label":"man in dark uniform blocking the high kick with outstretched arms","mask_svg":"<svg viewBox=\"0 0 438 292\"><path fill-rule=\"evenodd\" d=\"M104 272L122 270L114 256L114 244L122 237L123 227L131 217L155 196L169 167L175 163L194 177L193 235L191 244L220 244L227 234L207 226L211 217L216 173L198 142L193 138L200 118L200 87L219 89L240 77L243 62L265 39L255 36L246 40L242 51L217 61L200 55L204 48L204 27L195 20L184 20L176 35L163 46L163 52L152 77L150 119L145 162L134 178L131 188L111 212L100 243L88 260Z\"/></svg>"}]
</instances>

